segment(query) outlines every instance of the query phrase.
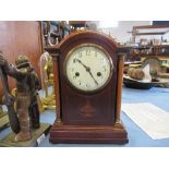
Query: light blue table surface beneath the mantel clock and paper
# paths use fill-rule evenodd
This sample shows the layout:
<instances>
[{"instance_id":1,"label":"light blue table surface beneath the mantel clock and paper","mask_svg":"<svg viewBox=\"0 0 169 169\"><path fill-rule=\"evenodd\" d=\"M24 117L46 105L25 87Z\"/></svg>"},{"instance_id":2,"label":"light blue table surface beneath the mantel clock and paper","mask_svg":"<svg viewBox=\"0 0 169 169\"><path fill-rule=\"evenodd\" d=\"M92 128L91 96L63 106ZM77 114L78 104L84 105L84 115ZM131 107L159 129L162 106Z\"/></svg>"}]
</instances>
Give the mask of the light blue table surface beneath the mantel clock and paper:
<instances>
[{"instance_id":1,"label":"light blue table surface beneath the mantel clock and paper","mask_svg":"<svg viewBox=\"0 0 169 169\"><path fill-rule=\"evenodd\" d=\"M169 112L169 88L153 87L150 89L133 89L123 86L122 104L150 102ZM40 114L40 121L53 123L56 119L55 110L46 110ZM140 129L125 113L121 113L121 121L128 131L129 143L117 144L51 144L49 134L40 143L39 147L169 147L169 138L152 140L142 129ZM11 129L0 132L0 140L7 136Z\"/></svg>"}]
</instances>

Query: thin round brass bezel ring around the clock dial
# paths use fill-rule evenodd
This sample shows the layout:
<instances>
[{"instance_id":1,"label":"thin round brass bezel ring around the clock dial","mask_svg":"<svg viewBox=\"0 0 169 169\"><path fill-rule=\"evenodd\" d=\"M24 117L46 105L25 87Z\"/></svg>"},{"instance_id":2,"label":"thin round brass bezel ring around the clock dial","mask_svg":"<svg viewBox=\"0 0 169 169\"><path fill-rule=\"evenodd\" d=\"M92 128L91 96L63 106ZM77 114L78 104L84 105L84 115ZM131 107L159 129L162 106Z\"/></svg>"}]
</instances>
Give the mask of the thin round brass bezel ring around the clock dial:
<instances>
[{"instance_id":1,"label":"thin round brass bezel ring around the clock dial","mask_svg":"<svg viewBox=\"0 0 169 169\"><path fill-rule=\"evenodd\" d=\"M69 80L69 77L68 77L68 75L67 75L67 63L68 63L68 60L69 60L70 56L71 56L76 49L82 48L82 47L95 47L95 48L101 50L104 53L106 53L106 56L107 56L107 58L108 58L108 60L109 60L109 62L110 62L110 74L109 74L108 80L106 81L106 83L105 83L104 85L101 85L100 87L98 87L97 89L94 89L94 90L84 90L84 89L77 88L76 86L74 86L74 85L70 82L70 80ZM112 59L111 59L110 55L109 55L101 46L96 45L96 44L92 44L92 43L89 43L89 44L81 44L81 45L79 45L79 46L72 48L72 49L67 53L67 57L65 57L64 62L63 62L63 74L64 74L64 76L65 76L65 79L67 79L69 85L70 85L71 87L75 88L76 90L79 90L79 92L81 92L81 93L85 93L85 94L96 93L96 92L101 90L102 88L105 88L105 87L107 86L107 84L108 84L108 83L110 82L110 80L111 80L111 76L112 76L112 73L113 73L112 71L113 71L113 62L112 62Z\"/></svg>"}]
</instances>

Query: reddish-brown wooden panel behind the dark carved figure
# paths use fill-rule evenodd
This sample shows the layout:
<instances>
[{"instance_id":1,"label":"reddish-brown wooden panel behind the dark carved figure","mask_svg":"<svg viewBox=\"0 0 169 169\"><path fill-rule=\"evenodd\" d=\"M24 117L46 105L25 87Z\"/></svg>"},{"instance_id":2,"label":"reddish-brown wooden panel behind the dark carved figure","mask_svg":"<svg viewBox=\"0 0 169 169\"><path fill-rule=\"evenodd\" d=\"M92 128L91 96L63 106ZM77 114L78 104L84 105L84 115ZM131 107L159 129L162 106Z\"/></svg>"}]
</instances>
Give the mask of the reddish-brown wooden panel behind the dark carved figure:
<instances>
[{"instance_id":1,"label":"reddish-brown wooden panel behind the dark carved figure","mask_svg":"<svg viewBox=\"0 0 169 169\"><path fill-rule=\"evenodd\" d=\"M9 62L14 63L19 55L29 58L39 75L39 57L43 53L41 23L35 21L0 22L0 50L7 56ZM10 88L15 85L9 79ZM0 82L0 98L2 84Z\"/></svg>"}]
</instances>

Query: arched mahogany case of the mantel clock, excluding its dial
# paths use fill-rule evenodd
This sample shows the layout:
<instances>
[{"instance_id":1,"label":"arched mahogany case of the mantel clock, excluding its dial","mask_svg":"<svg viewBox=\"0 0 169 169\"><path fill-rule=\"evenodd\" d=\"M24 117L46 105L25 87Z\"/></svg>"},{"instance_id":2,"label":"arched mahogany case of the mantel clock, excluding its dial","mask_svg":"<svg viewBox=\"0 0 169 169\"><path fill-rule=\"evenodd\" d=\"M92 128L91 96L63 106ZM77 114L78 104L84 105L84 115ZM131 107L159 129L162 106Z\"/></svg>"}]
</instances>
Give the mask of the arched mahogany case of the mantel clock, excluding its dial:
<instances>
[{"instance_id":1,"label":"arched mahogany case of the mantel clock, excluding its dial","mask_svg":"<svg viewBox=\"0 0 169 169\"><path fill-rule=\"evenodd\" d=\"M72 87L64 73L65 58L75 47L83 44L100 46L113 63L109 82L94 93L83 93ZM117 123L117 99L121 84L118 84L120 57L116 43L105 34L80 32L71 34L59 46L48 49L56 67L56 96L60 104L57 121L50 131L52 143L126 143L128 134L123 125ZM58 56L58 57L57 57ZM122 76L122 75L121 75ZM58 90L57 90L58 89ZM121 100L120 100L121 101Z\"/></svg>"}]
</instances>

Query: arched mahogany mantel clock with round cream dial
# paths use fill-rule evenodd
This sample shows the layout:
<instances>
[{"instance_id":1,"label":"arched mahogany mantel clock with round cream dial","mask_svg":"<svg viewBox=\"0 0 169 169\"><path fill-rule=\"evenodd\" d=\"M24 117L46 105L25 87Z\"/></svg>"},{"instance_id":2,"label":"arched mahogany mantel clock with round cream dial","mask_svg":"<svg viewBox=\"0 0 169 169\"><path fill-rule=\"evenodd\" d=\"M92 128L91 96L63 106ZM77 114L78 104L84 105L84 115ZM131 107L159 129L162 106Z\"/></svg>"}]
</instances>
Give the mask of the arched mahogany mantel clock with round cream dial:
<instances>
[{"instance_id":1,"label":"arched mahogany mantel clock with round cream dial","mask_svg":"<svg viewBox=\"0 0 169 169\"><path fill-rule=\"evenodd\" d=\"M120 121L123 57L112 38L77 32L47 50L57 97L50 142L126 143Z\"/></svg>"}]
</instances>

